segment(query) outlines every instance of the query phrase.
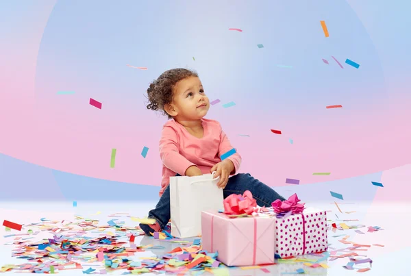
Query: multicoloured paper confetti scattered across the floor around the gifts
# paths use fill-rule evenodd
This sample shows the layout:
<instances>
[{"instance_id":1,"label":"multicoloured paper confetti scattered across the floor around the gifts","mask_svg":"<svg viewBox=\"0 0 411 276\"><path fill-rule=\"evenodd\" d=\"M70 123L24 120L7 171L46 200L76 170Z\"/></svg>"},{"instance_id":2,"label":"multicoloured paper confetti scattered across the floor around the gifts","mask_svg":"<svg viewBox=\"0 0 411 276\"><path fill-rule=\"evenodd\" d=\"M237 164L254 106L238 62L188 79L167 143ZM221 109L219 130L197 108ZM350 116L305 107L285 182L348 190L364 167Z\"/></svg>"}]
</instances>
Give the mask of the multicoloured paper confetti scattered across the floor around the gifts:
<instances>
[{"instance_id":1,"label":"multicoloured paper confetti scattered across the floor around the gifts","mask_svg":"<svg viewBox=\"0 0 411 276\"><path fill-rule=\"evenodd\" d=\"M336 208L341 212L336 203ZM262 208L262 213L271 211ZM329 211L331 212L331 211ZM332 216L328 212L328 216ZM342 212L341 212L342 213ZM353 214L355 211L345 212ZM98 214L98 213L97 213ZM119 215L120 214L120 215ZM58 273L58 271L77 269L85 274L107 274L119 271L122 274L140 273L171 273L184 275L185 273L200 274L209 272L214 275L228 275L229 269L217 259L217 253L208 253L201 250L201 238L193 241L173 238L168 230L155 232L153 237L148 238L150 243L172 242L179 247L163 255L152 257L141 257L140 252L146 250L165 249L161 245L153 244L137 245L134 243L136 236L144 235L138 227L127 227L121 217L132 218L132 221L149 223L144 218L134 218L127 213L116 213L114 217L99 225L99 220L75 216L72 221L50 221L41 218L38 223L18 225L7 222L14 229L21 229L21 234L9 234L5 238L14 238L6 243L13 244L12 256L27 260L25 264L5 264L0 272L18 273ZM338 218L338 216L337 216ZM233 218L235 219L235 218ZM315 270L329 268L332 261L347 258L347 265L343 268L366 272L371 269L372 260L364 251L371 245L359 244L349 240L347 234L333 235L333 233L344 231L355 231L364 235L374 231L382 231L378 226L366 227L365 225L347 225L345 222L358 221L357 219L328 219L329 240L333 238L338 245L350 244L343 249L336 249L336 244L329 244L329 251L323 253L312 253L303 256L277 259L277 264L290 264L281 275L307 273ZM362 231L360 229L363 229ZM11 231L6 227L6 230ZM17 233L15 231L15 233ZM49 238L39 238L41 235ZM338 235L339 234L339 235ZM37 238L37 240L36 240ZM36 240L36 241L34 241ZM166 244L164 244L166 245ZM332 247L332 246L334 247ZM382 244L372 244L373 247L384 247ZM270 273L269 266L249 266L240 269L261 269ZM292 271L289 270L292 268ZM230 268L231 269L231 268Z\"/></svg>"}]
</instances>

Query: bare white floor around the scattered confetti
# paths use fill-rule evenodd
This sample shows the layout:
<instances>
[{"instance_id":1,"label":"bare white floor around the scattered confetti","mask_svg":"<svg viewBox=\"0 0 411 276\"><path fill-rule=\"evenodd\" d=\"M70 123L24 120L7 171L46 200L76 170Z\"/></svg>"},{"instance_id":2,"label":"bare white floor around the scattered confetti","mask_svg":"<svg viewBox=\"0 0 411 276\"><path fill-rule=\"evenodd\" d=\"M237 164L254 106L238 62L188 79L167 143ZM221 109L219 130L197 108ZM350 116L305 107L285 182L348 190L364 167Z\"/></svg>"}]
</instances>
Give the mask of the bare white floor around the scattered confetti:
<instances>
[{"instance_id":1,"label":"bare white floor around the scattered confetti","mask_svg":"<svg viewBox=\"0 0 411 276\"><path fill-rule=\"evenodd\" d=\"M40 218L48 218L51 220L62 221L68 219L73 221L74 215L86 216L99 219L99 225L106 225L110 221L108 215L116 212L126 212L132 216L144 217L147 212L155 205L155 202L83 202L78 201L77 207L73 207L71 202L1 202L0 203L0 222L3 220L12 221L14 223L38 223ZM371 271L364 273L365 275L409 275L408 271L408 253L410 253L411 242L408 236L408 229L410 227L409 219L411 213L410 203L344 203L340 204L340 213L334 203L316 202L307 203L307 206L321 208L328 210L328 219L340 223L337 219L358 219L359 221L346 222L347 225L365 225L361 230L366 234L357 234L355 229L329 231L329 246L335 249L344 249L350 245L338 242L343 236L333 237L338 235L347 235L347 240L355 241L358 244L384 244L385 247L371 246L368 251L357 252L366 255L366 258L373 260ZM101 214L96 214L97 212ZM351 214L345 212L356 211ZM338 216L338 218L336 217ZM126 225L134 227L138 223L131 221L129 218L121 218ZM382 231L373 233L366 232L369 226L379 226ZM27 229L23 228L23 233L27 233ZM23 264L27 261L11 257L13 245L4 245L7 242L12 242L13 237L4 238L5 235L20 234L18 231L5 231L5 227L0 227L0 267L5 264ZM43 238L42 235L49 235L47 233L40 233L36 238ZM51 235L49 235L51 238ZM136 238L136 243L140 244L154 244L162 245L165 249L147 250L145 252L136 253L136 257L150 257L161 255L164 252L171 251L178 247L179 244L165 242L163 240L154 240L153 238L140 236ZM330 249L329 251L332 251ZM310 258L307 256L307 258ZM302 262L293 262L290 264L276 264L273 266L264 266L270 271L271 275L282 275L284 272L295 272L297 268L303 268L306 275L356 275L356 270L347 271L343 266L349 262L348 258L328 261L327 265L330 268L308 268ZM356 268L369 267L369 264L359 264L354 266ZM103 269L102 266L93 268ZM87 269L87 267L86 267ZM85 269L84 269L85 270ZM408 272L407 272L408 271ZM121 274L125 271L116 271L115 274ZM83 275L82 270L76 271L59 271L61 275ZM147 273L148 274L148 273ZM242 270L241 268L229 268L230 275L268 275L260 268L251 270Z\"/></svg>"}]
</instances>

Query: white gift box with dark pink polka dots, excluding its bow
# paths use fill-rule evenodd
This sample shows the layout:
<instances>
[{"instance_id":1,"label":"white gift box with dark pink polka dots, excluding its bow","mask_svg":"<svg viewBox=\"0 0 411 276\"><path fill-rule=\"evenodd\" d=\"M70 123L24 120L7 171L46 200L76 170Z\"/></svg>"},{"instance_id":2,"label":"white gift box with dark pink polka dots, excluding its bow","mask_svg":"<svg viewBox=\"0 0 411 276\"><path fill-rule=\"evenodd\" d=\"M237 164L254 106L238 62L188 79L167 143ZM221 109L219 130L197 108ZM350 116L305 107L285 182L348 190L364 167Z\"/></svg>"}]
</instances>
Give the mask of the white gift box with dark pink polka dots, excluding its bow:
<instances>
[{"instance_id":1,"label":"white gift box with dark pink polka dots, excluding its bow","mask_svg":"<svg viewBox=\"0 0 411 276\"><path fill-rule=\"evenodd\" d=\"M275 219L275 254L281 258L327 251L327 213L306 208Z\"/></svg>"}]
</instances>

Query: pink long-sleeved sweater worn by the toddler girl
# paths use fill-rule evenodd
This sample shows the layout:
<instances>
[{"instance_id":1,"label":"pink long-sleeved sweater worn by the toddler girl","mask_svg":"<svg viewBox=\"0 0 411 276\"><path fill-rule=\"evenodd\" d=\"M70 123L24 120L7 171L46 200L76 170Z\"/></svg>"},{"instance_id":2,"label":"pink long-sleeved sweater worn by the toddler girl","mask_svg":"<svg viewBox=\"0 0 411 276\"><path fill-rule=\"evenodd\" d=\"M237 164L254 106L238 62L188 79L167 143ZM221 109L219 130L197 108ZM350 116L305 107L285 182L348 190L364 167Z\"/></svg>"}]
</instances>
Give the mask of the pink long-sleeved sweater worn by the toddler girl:
<instances>
[{"instance_id":1,"label":"pink long-sleeved sweater worn by the toddler girl","mask_svg":"<svg viewBox=\"0 0 411 276\"><path fill-rule=\"evenodd\" d=\"M171 176L184 175L188 167L196 165L203 174L221 162L221 155L233 149L219 122L203 118L203 138L192 136L186 128L174 119L167 121L160 139L160 158L162 160L162 181L160 197ZM240 168L241 156L238 153L227 158L234 164L235 173Z\"/></svg>"}]
</instances>

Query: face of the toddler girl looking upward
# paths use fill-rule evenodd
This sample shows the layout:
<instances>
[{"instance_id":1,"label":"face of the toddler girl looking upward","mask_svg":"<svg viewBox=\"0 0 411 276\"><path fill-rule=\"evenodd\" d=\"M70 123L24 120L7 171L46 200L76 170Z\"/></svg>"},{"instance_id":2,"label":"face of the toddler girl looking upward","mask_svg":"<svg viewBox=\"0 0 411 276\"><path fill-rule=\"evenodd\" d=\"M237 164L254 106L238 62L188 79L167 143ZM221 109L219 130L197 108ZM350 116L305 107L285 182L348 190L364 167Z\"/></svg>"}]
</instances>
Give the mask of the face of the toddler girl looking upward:
<instances>
[{"instance_id":1,"label":"face of the toddler girl looking upward","mask_svg":"<svg viewBox=\"0 0 411 276\"><path fill-rule=\"evenodd\" d=\"M177 120L194 121L206 116L210 100L204 92L198 77L188 77L177 82L174 87L173 103L167 113Z\"/></svg>"}]
</instances>

